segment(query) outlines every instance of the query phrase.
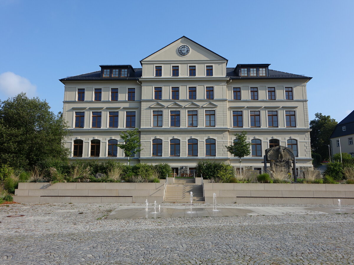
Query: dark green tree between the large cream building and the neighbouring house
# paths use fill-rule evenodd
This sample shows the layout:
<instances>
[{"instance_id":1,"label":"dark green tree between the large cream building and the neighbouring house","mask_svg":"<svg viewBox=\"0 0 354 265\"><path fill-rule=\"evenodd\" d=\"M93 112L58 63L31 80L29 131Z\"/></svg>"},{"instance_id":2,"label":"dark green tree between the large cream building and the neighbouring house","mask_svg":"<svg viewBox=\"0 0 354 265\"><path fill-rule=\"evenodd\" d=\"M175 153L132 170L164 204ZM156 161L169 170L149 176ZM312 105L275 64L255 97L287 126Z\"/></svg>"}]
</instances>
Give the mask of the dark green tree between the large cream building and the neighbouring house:
<instances>
[{"instance_id":1,"label":"dark green tree between the large cream building and the neighbouring house","mask_svg":"<svg viewBox=\"0 0 354 265\"><path fill-rule=\"evenodd\" d=\"M330 144L330 136L335 129L337 122L331 116L316 113L315 119L310 121L310 139L311 149L313 153L320 154L322 159L329 159L328 145Z\"/></svg>"}]
</instances>

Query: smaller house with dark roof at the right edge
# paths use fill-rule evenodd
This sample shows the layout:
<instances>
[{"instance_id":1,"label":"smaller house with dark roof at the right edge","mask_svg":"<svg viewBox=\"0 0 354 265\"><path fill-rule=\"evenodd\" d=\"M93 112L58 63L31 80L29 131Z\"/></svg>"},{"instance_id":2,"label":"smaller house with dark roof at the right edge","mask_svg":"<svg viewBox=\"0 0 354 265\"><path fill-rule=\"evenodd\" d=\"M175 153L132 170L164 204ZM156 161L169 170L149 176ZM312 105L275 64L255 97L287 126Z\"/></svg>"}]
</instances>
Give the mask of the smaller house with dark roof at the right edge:
<instances>
[{"instance_id":1,"label":"smaller house with dark roof at the right edge","mask_svg":"<svg viewBox=\"0 0 354 265\"><path fill-rule=\"evenodd\" d=\"M330 139L332 154L348 153L354 157L354 111L336 125Z\"/></svg>"}]
</instances>

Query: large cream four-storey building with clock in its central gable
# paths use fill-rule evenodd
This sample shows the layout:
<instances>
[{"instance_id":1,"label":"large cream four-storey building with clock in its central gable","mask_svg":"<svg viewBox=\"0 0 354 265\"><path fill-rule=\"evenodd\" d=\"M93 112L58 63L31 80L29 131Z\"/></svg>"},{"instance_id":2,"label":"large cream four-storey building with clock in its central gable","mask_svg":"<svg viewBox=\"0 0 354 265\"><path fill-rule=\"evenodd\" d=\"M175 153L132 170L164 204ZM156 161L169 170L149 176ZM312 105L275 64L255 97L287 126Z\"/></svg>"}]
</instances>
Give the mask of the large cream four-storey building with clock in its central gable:
<instances>
[{"instance_id":1,"label":"large cream four-storey building with clock in its central gable","mask_svg":"<svg viewBox=\"0 0 354 265\"><path fill-rule=\"evenodd\" d=\"M72 136L70 159L115 159L119 134L139 128L142 152L132 163L169 163L193 170L199 160L229 162L234 133L252 143L242 166L263 170L264 150L293 148L298 169L312 166L306 84L311 77L238 64L181 37L131 65L63 78L63 115Z\"/></svg>"}]
</instances>

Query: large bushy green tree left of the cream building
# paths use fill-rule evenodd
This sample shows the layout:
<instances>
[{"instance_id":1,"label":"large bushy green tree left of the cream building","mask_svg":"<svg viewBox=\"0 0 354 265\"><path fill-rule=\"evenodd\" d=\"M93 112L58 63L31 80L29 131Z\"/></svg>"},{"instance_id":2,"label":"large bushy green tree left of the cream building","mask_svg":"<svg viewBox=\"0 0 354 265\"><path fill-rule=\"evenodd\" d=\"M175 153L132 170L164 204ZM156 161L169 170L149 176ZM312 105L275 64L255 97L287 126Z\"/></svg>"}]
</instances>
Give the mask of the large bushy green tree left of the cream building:
<instances>
[{"instance_id":1,"label":"large bushy green tree left of the cream building","mask_svg":"<svg viewBox=\"0 0 354 265\"><path fill-rule=\"evenodd\" d=\"M49 159L66 160L69 150L62 141L67 128L61 113L50 111L45 100L20 93L0 101L0 162L25 168Z\"/></svg>"}]
</instances>

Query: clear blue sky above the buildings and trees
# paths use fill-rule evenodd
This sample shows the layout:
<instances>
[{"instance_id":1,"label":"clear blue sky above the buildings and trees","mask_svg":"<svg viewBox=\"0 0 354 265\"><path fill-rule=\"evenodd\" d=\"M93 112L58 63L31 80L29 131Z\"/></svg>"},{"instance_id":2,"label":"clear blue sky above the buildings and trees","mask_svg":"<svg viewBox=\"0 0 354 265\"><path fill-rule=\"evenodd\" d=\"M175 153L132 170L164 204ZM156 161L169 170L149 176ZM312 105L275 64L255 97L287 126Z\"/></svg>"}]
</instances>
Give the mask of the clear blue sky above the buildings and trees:
<instances>
[{"instance_id":1,"label":"clear blue sky above the buildings and trees","mask_svg":"<svg viewBox=\"0 0 354 265\"><path fill-rule=\"evenodd\" d=\"M185 35L238 63L303 74L309 118L353 111L354 1L0 0L0 99L62 110L66 76L131 64Z\"/></svg>"}]
</instances>

